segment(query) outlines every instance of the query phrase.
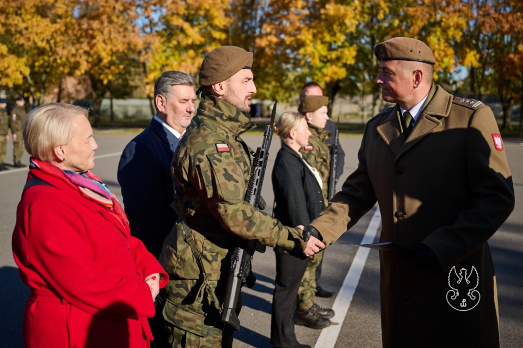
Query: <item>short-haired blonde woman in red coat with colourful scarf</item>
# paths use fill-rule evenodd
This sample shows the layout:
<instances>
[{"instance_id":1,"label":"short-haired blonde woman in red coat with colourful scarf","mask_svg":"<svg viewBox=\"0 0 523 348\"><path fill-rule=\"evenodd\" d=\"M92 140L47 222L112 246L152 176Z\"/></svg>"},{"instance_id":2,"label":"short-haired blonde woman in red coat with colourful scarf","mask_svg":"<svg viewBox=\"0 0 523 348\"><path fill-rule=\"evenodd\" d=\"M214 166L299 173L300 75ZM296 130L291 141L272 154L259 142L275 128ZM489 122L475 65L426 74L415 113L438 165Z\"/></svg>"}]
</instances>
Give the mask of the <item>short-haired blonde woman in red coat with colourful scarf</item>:
<instances>
[{"instance_id":1,"label":"short-haired blonde woman in red coat with colourful scarf","mask_svg":"<svg viewBox=\"0 0 523 348\"><path fill-rule=\"evenodd\" d=\"M90 172L98 146L87 110L43 105L27 115L23 134L32 158L13 254L31 289L25 346L148 347L147 318L167 274Z\"/></svg>"}]
</instances>

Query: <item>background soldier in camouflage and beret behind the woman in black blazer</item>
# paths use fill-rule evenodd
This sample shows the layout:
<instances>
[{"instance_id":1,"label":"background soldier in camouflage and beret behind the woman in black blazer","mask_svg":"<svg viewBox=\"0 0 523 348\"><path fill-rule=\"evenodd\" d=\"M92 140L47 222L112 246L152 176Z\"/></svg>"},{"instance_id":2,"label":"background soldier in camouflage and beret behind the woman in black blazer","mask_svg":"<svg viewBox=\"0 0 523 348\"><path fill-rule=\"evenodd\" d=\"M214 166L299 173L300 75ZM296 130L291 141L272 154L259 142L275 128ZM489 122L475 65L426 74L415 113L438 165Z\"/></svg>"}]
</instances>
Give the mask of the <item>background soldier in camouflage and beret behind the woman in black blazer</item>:
<instances>
[{"instance_id":1,"label":"background soldier in camouflage and beret behind the woman in black blazer","mask_svg":"<svg viewBox=\"0 0 523 348\"><path fill-rule=\"evenodd\" d=\"M325 142L331 136L331 133L325 130L325 124L328 120L327 104L328 98L325 96L305 96L298 107L298 111L304 114L307 122L309 122L309 130L312 133L309 137L309 145L302 147L300 152L320 173L325 206L328 204L328 177L331 170L329 145ZM314 302L316 298L316 268L322 257L323 251L309 259L298 289L298 308L294 313L295 324L305 325L313 329L329 326L331 324L329 319L334 317L332 309L323 308Z\"/></svg>"}]
</instances>

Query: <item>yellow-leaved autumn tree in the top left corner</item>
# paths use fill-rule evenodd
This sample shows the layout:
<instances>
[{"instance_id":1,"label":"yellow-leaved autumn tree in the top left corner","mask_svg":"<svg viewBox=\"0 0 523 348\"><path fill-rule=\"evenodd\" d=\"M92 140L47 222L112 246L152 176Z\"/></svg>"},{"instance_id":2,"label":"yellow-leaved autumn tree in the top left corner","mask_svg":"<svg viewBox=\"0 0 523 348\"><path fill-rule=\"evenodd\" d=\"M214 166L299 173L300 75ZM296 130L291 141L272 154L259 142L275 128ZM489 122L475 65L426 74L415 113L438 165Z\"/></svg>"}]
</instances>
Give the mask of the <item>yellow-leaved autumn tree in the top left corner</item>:
<instances>
[{"instance_id":1,"label":"yellow-leaved autumn tree in the top left corner","mask_svg":"<svg viewBox=\"0 0 523 348\"><path fill-rule=\"evenodd\" d=\"M37 105L69 73L72 1L0 2L1 84L29 91Z\"/></svg>"}]
</instances>

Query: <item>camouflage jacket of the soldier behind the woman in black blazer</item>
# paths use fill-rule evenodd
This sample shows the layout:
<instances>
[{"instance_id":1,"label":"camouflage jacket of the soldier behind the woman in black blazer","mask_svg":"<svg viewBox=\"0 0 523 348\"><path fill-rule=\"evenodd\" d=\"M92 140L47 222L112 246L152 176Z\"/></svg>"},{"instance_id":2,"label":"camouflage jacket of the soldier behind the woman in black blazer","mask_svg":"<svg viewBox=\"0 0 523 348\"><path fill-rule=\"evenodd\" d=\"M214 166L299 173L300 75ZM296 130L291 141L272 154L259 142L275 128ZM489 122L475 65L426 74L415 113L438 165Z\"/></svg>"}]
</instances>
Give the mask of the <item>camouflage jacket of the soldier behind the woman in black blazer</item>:
<instances>
[{"instance_id":1,"label":"camouflage jacket of the soldier behind the woman in black blazer","mask_svg":"<svg viewBox=\"0 0 523 348\"><path fill-rule=\"evenodd\" d=\"M309 124L309 131L312 135L309 137L309 145L300 149L301 154L305 159L318 170L322 177L322 193L325 201L325 206L328 205L328 177L331 173L331 153L329 144L325 141L331 132L326 129L321 129L315 125Z\"/></svg>"}]
</instances>

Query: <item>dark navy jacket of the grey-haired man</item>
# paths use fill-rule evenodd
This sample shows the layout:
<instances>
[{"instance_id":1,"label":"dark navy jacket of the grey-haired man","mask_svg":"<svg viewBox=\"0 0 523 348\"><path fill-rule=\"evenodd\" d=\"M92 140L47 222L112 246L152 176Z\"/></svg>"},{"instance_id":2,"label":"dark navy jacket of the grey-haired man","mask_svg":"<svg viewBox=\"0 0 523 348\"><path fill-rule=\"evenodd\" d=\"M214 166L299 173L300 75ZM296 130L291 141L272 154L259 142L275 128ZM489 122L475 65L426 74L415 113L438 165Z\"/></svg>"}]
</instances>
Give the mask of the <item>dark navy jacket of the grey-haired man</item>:
<instances>
[{"instance_id":1,"label":"dark navy jacket of the grey-haired man","mask_svg":"<svg viewBox=\"0 0 523 348\"><path fill-rule=\"evenodd\" d=\"M156 258L178 219L170 207L174 201L170 164L176 146L174 134L153 119L123 149L118 164L118 183L131 234L142 240Z\"/></svg>"}]
</instances>

